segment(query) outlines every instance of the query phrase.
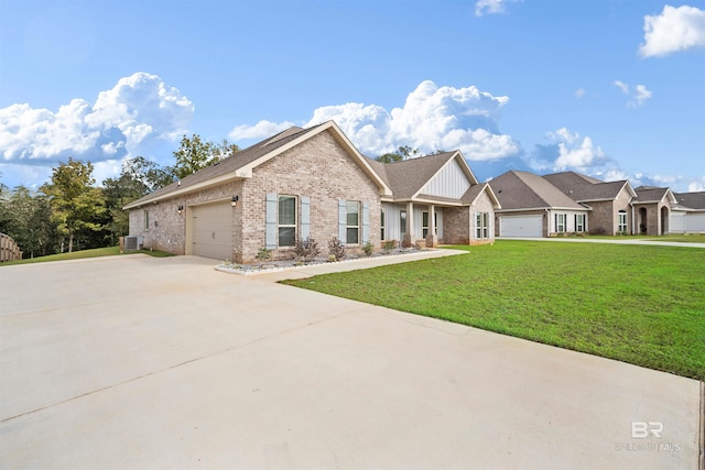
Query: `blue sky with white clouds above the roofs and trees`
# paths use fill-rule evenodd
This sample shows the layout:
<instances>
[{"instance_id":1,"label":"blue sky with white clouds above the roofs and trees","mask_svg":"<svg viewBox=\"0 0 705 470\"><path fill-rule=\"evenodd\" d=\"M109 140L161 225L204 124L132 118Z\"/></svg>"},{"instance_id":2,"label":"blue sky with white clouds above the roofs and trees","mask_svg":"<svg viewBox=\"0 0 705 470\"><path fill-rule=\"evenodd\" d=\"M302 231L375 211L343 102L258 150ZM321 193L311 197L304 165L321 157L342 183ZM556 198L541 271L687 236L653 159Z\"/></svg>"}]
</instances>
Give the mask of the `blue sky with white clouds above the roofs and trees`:
<instances>
[{"instance_id":1,"label":"blue sky with white clouds above the roofs and trees","mask_svg":"<svg viewBox=\"0 0 705 470\"><path fill-rule=\"evenodd\" d=\"M369 156L460 149L481 181L705 190L705 2L0 0L11 188L328 119Z\"/></svg>"}]
</instances>

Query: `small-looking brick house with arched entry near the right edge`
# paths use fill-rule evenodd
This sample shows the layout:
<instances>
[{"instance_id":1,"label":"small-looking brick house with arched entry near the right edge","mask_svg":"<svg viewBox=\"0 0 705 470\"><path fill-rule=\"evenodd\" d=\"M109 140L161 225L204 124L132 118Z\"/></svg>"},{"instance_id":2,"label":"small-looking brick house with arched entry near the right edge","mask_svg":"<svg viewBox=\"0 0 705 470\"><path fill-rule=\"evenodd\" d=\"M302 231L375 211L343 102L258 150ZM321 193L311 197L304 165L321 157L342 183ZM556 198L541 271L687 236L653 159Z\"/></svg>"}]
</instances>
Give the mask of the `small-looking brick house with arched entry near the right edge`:
<instances>
[{"instance_id":1,"label":"small-looking brick house with arched entry near the right edge","mask_svg":"<svg viewBox=\"0 0 705 470\"><path fill-rule=\"evenodd\" d=\"M634 189L634 234L661 236L670 232L671 210L677 201L668 187L640 186Z\"/></svg>"}]
</instances>

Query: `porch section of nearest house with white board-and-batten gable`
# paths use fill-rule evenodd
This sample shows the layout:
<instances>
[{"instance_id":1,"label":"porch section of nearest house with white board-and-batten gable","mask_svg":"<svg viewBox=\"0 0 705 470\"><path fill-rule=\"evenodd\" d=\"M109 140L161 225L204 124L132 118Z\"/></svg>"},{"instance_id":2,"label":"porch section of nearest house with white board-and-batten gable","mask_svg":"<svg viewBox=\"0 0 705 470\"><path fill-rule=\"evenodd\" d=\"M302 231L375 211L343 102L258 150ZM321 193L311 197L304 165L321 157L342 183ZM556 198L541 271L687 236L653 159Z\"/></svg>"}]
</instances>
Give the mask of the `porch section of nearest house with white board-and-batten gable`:
<instances>
[{"instance_id":1,"label":"porch section of nearest house with white board-and-batten gable","mask_svg":"<svg viewBox=\"0 0 705 470\"><path fill-rule=\"evenodd\" d=\"M381 240L426 247L495 241L499 201L487 183L478 183L459 151L370 164L392 189L381 197Z\"/></svg>"}]
</instances>

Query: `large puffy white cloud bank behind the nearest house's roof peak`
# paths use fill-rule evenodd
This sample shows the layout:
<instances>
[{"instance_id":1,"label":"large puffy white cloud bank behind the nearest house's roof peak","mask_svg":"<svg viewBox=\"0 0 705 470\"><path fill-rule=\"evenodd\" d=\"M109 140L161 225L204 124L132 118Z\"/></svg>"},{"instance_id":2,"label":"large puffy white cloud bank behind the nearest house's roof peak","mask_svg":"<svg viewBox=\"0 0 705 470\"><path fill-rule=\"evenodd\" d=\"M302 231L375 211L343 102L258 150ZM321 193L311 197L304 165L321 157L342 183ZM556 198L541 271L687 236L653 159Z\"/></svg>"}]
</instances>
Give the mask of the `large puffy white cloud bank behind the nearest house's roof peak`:
<instances>
[{"instance_id":1,"label":"large puffy white cloud bank behind the nearest house's roof peak","mask_svg":"<svg viewBox=\"0 0 705 470\"><path fill-rule=\"evenodd\" d=\"M371 156L410 145L422 153L459 149L468 160L495 160L520 150L510 135L498 131L501 108L508 102L507 97L495 97L474 86L438 87L426 80L409 94L403 108L388 112L380 106L359 102L325 106L315 109L303 125L335 120L355 145ZM272 134L271 130L288 125L238 125L229 136L265 138Z\"/></svg>"}]
</instances>

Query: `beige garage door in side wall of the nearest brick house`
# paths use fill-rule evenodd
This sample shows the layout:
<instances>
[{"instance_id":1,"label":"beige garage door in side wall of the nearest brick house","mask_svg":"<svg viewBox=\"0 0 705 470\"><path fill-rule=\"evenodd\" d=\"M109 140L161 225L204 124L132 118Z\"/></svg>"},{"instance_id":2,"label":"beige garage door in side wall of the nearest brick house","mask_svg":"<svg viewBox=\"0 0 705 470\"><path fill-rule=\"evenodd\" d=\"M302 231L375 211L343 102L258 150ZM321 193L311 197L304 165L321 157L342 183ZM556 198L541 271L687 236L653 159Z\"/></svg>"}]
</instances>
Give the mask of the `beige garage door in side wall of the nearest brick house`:
<instances>
[{"instance_id":1,"label":"beige garage door in side wall of the nearest brick house","mask_svg":"<svg viewBox=\"0 0 705 470\"><path fill-rule=\"evenodd\" d=\"M230 203L195 206L192 210L193 254L232 259L232 207Z\"/></svg>"}]
</instances>

